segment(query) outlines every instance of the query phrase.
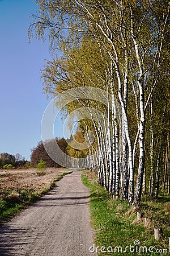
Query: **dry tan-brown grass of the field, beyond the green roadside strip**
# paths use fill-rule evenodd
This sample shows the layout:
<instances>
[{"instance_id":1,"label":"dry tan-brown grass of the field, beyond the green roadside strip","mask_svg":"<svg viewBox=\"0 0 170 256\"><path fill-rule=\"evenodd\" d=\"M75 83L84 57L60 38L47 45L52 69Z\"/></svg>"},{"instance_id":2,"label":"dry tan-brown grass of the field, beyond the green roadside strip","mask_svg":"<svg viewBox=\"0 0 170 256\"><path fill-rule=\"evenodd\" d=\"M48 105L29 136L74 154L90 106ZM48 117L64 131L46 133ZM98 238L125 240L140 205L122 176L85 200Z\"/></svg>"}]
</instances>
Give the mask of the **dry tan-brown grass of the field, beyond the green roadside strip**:
<instances>
[{"instance_id":1,"label":"dry tan-brown grass of the field, beyond the green roadside strip","mask_svg":"<svg viewBox=\"0 0 170 256\"><path fill-rule=\"evenodd\" d=\"M50 188L54 179L68 171L64 168L46 168L45 175L37 176L35 168L0 170L0 199L19 197L21 191L36 192L40 195ZM8 193L9 191L12 194Z\"/></svg>"}]
</instances>

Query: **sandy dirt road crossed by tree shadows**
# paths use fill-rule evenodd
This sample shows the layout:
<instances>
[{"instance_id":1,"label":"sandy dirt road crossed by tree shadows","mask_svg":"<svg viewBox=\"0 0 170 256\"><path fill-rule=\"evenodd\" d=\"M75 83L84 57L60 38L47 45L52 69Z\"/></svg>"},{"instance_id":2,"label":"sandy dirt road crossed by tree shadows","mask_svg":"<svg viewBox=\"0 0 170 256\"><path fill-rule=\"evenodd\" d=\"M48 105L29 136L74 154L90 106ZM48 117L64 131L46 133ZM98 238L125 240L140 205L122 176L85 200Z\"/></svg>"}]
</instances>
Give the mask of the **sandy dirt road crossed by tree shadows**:
<instances>
[{"instance_id":1,"label":"sandy dirt road crossed by tree shadows","mask_svg":"<svg viewBox=\"0 0 170 256\"><path fill-rule=\"evenodd\" d=\"M88 256L93 244L82 172L58 181L39 201L0 227L0 255Z\"/></svg>"}]
</instances>

